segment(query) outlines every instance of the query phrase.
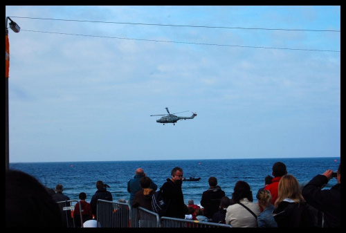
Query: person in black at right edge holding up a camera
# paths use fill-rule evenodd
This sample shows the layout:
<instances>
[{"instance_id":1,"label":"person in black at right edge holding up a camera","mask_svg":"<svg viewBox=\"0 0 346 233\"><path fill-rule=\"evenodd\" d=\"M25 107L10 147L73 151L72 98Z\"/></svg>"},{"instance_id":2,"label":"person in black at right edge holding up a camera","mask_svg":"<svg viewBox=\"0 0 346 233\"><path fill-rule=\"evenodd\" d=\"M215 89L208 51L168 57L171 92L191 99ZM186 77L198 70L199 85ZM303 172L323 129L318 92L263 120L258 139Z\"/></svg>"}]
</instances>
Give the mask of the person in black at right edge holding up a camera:
<instances>
[{"instance_id":1,"label":"person in black at right edge holding up a camera","mask_svg":"<svg viewBox=\"0 0 346 233\"><path fill-rule=\"evenodd\" d=\"M302 189L302 196L309 205L323 212L323 227L340 227L341 219L341 169L338 167L338 183L331 189L323 189L332 178L331 169L317 175Z\"/></svg>"}]
</instances>

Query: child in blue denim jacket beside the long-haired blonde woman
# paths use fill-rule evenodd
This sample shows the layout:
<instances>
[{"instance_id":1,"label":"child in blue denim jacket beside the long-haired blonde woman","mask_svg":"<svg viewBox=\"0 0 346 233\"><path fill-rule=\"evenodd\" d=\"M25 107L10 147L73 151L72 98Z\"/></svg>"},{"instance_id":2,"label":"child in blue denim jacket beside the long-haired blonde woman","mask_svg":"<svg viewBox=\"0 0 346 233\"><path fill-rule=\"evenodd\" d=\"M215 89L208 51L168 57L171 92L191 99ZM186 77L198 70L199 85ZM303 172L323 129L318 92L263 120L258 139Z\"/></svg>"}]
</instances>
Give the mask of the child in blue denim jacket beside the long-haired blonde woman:
<instances>
[{"instance_id":1,"label":"child in blue denim jacket beside the long-haired blonde woman","mask_svg":"<svg viewBox=\"0 0 346 233\"><path fill-rule=\"evenodd\" d=\"M260 216L257 217L258 227L277 227L272 214L274 205L271 203L271 192L262 189L257 192L256 198L260 209L263 209Z\"/></svg>"}]
</instances>

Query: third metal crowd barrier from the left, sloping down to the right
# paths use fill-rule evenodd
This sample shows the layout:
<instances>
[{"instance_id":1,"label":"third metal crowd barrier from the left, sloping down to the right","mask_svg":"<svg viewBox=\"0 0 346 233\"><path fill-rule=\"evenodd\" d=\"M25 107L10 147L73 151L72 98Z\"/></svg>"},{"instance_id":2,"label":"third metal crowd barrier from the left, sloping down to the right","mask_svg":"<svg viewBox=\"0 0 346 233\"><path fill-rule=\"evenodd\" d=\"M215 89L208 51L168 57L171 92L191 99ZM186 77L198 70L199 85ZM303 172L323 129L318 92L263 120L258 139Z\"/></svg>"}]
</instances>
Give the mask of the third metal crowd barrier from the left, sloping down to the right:
<instances>
[{"instance_id":1,"label":"third metal crowd barrier from the left, sloping down to the right","mask_svg":"<svg viewBox=\"0 0 346 233\"><path fill-rule=\"evenodd\" d=\"M143 207L132 208L131 227L160 227L160 216Z\"/></svg>"}]
</instances>

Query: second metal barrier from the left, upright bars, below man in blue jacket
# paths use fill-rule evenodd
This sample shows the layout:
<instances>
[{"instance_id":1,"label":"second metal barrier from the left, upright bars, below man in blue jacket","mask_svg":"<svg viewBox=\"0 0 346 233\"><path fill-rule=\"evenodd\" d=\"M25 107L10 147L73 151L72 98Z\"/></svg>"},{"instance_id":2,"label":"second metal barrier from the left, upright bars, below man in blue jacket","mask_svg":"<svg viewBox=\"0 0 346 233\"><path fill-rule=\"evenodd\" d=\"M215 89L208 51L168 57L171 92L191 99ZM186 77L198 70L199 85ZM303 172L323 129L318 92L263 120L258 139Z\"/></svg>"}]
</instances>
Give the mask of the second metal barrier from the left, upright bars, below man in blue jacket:
<instances>
[{"instance_id":1,"label":"second metal barrier from the left, upright bars, below man in blue jacket","mask_svg":"<svg viewBox=\"0 0 346 233\"><path fill-rule=\"evenodd\" d=\"M100 227L130 227L131 208L127 203L99 199L96 213Z\"/></svg>"}]
</instances>

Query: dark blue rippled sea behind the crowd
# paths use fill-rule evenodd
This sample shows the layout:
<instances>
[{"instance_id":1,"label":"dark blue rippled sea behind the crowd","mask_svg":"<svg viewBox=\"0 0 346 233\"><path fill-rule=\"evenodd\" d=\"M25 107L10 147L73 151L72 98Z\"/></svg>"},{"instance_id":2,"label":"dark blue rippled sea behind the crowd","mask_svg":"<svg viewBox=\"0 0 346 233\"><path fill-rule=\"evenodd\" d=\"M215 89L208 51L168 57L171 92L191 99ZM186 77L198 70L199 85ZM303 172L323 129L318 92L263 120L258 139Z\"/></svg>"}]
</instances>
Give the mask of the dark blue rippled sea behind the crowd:
<instances>
[{"instance_id":1,"label":"dark blue rippled sea behind the crowd","mask_svg":"<svg viewBox=\"0 0 346 233\"><path fill-rule=\"evenodd\" d=\"M288 174L292 174L300 183L311 180L327 169L336 172L340 157L328 158L249 158L249 159L208 159L208 160L147 160L147 161L103 161L103 162L11 162L10 169L24 171L37 178L46 187L55 189L55 185L64 186L64 194L71 200L78 200L80 192L86 193L86 201L90 202L96 192L95 183L102 180L109 185L113 201L120 198L129 200L127 182L134 178L138 167L144 169L158 187L170 178L174 167L183 169L186 178L201 178L199 181L184 181L182 185L184 202L194 200L200 205L202 193L209 188L208 178L215 176L218 185L229 198L238 180L246 181L253 192L253 201L257 202L256 194L264 186L264 178L271 175L275 162L284 162ZM333 178L324 189L336 185Z\"/></svg>"}]
</instances>

